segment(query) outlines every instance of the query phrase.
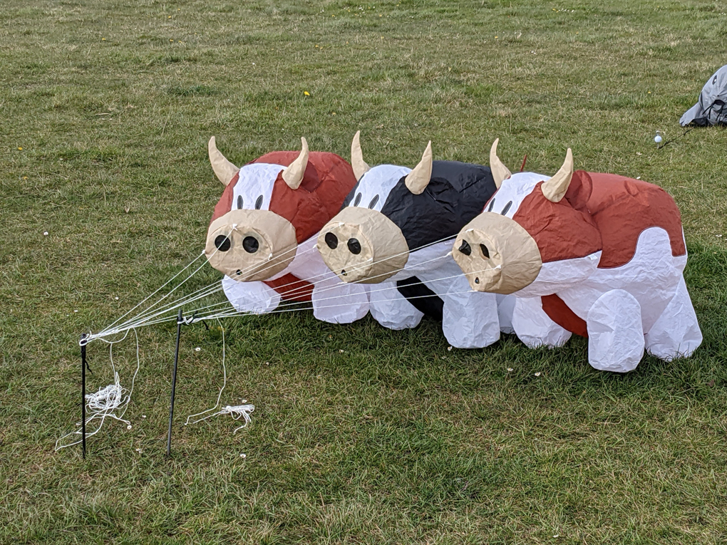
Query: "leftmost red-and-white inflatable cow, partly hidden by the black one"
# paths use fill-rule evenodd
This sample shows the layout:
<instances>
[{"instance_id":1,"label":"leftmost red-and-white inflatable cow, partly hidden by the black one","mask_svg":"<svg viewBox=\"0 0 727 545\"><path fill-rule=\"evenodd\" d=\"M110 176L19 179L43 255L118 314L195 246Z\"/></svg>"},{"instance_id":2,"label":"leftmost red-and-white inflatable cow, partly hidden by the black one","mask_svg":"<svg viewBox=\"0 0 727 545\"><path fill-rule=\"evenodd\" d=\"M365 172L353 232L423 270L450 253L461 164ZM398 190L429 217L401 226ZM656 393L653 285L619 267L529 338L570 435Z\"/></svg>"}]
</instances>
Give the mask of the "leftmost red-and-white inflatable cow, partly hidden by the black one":
<instances>
[{"instance_id":1,"label":"leftmost red-and-white inflatable cow, partly hidden by the black one","mask_svg":"<svg viewBox=\"0 0 727 545\"><path fill-rule=\"evenodd\" d=\"M239 312L271 312L281 299L312 301L316 318L352 322L368 311L366 290L334 277L315 243L356 178L344 159L309 153L301 140L300 152L266 153L240 169L209 140L209 161L225 190L205 254L225 274L225 295Z\"/></svg>"}]
</instances>

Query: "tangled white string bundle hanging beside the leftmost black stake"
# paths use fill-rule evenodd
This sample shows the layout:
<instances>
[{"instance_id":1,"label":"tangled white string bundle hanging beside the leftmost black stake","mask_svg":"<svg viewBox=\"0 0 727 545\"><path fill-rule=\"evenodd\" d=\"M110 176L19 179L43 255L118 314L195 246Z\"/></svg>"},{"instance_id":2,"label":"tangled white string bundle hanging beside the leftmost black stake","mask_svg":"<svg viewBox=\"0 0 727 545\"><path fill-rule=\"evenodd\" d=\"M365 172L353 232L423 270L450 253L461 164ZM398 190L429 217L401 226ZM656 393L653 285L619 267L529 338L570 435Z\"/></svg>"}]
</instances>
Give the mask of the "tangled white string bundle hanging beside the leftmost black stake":
<instances>
[{"instance_id":1,"label":"tangled white string bundle hanging beside the leftmost black stake","mask_svg":"<svg viewBox=\"0 0 727 545\"><path fill-rule=\"evenodd\" d=\"M132 424L130 421L124 419L124 415L126 414L126 409L129 408L129 402L132 399L132 394L134 393L134 383L136 382L137 374L139 373L140 368L140 358L139 358L139 336L137 335L136 329L134 329L134 337L136 337L136 358L137 358L137 367L136 371L134 371L134 376L132 377L132 386L131 389L126 389L121 386L121 382L119 380L119 372L116 371L116 366L113 364L113 345L117 342L121 342L124 339L126 339L126 336L129 334L129 331L126 331L126 335L124 335L121 339L118 341L107 341L105 339L103 342L107 343L108 346L108 358L111 361L111 371L113 372L113 384L108 384L108 386L101 387L98 389L98 392L93 392L91 394L86 395L86 406L89 411L89 416L86 417L86 425L90 424L94 420L100 419L100 422L96 429L92 430L91 432L86 433L86 437L91 437L92 435L96 435L97 432L103 427L103 423L105 419L111 418L114 420L118 420L121 422L124 422L126 424L126 429L131 429ZM121 408L121 414L116 414L116 411L118 411ZM80 426L81 422L76 422L76 426ZM71 447L73 445L79 445L83 438L73 441L73 443L63 444L63 440L65 440L67 437L71 437L73 435L82 435L82 431L79 429L76 429L76 431L67 433L63 435L62 437L59 437L58 440L55 442L55 451L60 451L61 448Z\"/></svg>"}]
</instances>

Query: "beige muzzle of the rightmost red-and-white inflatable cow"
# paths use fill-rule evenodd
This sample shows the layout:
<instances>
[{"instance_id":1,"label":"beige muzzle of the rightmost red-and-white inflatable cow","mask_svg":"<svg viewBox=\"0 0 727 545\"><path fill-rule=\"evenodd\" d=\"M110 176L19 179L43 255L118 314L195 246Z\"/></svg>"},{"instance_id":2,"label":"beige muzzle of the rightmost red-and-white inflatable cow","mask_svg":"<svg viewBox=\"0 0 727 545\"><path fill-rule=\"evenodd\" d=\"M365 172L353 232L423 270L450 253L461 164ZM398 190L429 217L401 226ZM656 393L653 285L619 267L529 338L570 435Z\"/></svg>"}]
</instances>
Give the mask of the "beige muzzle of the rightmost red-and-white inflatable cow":
<instances>
[{"instance_id":1,"label":"beige muzzle of the rightmost red-and-white inflatable cow","mask_svg":"<svg viewBox=\"0 0 727 545\"><path fill-rule=\"evenodd\" d=\"M515 220L483 212L454 241L452 257L475 291L512 294L529 286L542 259L534 238Z\"/></svg>"}]
</instances>

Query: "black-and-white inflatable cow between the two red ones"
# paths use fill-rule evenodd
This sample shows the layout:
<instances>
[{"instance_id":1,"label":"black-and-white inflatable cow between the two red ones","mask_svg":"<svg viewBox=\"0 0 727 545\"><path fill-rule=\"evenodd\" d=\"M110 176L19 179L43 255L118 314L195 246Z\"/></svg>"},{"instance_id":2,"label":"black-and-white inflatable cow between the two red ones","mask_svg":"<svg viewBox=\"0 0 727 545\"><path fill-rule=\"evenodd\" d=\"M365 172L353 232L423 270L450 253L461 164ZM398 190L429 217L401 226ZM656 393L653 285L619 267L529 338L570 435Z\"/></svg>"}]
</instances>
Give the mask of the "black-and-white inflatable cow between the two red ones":
<instances>
[{"instance_id":1,"label":"black-and-white inflatable cow between the two red ones","mask_svg":"<svg viewBox=\"0 0 727 545\"><path fill-rule=\"evenodd\" d=\"M470 290L451 258L451 239L497 189L486 166L422 161L405 166L364 162L359 133L351 145L358 185L321 230L326 265L351 285L369 285L371 315L392 329L441 318L455 347L484 347L499 339L497 301Z\"/></svg>"}]
</instances>

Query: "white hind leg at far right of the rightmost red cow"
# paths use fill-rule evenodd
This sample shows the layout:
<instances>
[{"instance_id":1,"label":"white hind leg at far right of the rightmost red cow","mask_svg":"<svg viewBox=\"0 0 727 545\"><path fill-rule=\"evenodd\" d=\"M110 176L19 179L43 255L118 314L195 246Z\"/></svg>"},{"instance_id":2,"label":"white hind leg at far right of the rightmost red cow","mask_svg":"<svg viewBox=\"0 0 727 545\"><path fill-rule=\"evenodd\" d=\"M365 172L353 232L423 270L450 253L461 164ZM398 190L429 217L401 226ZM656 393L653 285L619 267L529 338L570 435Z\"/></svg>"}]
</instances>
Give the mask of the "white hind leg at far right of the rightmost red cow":
<instances>
[{"instance_id":1,"label":"white hind leg at far right of the rightmost red cow","mask_svg":"<svg viewBox=\"0 0 727 545\"><path fill-rule=\"evenodd\" d=\"M702 331L682 277L676 294L646 334L646 351L671 361L688 358L699 344L702 344Z\"/></svg>"}]
</instances>

